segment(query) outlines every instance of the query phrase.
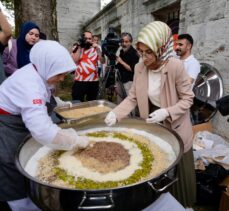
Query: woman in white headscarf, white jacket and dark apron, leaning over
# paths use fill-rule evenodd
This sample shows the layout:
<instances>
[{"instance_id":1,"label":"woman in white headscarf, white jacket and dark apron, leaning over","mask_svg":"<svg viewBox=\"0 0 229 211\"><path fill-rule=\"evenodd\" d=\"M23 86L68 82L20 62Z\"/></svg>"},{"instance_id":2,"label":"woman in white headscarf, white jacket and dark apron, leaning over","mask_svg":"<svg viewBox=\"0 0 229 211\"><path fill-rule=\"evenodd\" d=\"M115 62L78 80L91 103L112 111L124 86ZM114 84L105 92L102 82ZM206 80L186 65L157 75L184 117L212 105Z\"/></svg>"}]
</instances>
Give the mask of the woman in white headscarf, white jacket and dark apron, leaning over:
<instances>
[{"instance_id":1,"label":"woman in white headscarf, white jacket and dark apron, leaning over","mask_svg":"<svg viewBox=\"0 0 229 211\"><path fill-rule=\"evenodd\" d=\"M28 65L18 69L0 86L0 201L12 210L32 211L24 178L14 164L17 147L30 133L43 145L71 150L88 144L74 129L61 129L48 116L51 89L76 69L69 52L55 41L40 41ZM15 208L16 207L16 208Z\"/></svg>"}]
</instances>

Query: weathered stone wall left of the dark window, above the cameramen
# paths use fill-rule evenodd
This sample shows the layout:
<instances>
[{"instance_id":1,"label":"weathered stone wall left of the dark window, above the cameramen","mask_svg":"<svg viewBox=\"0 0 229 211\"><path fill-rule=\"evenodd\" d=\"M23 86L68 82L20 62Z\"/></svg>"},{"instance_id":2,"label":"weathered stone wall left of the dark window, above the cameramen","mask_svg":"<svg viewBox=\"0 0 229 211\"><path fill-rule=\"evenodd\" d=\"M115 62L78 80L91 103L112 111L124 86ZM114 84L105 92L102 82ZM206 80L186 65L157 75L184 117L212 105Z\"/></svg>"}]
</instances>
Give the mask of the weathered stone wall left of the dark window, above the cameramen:
<instances>
[{"instance_id":1,"label":"weathered stone wall left of the dark window, above the cameramen","mask_svg":"<svg viewBox=\"0 0 229 211\"><path fill-rule=\"evenodd\" d=\"M153 3L152 3L153 2ZM108 27L121 27L121 32L132 34L134 41L140 29L155 20L152 13L178 0L113 0L86 24L86 28L105 38ZM99 30L98 30L99 29ZM99 32L100 31L100 32Z\"/></svg>"}]
</instances>

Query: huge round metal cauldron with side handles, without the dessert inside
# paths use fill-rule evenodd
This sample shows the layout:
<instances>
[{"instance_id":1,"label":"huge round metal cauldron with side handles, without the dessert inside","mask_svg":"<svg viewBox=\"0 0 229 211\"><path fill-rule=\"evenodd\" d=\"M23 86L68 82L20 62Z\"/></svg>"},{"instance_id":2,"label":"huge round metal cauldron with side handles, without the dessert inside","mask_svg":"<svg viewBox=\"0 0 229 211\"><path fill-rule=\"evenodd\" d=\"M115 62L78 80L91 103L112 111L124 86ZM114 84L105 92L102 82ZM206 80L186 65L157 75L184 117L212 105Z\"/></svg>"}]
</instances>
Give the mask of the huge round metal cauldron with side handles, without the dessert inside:
<instances>
[{"instance_id":1,"label":"huge round metal cauldron with side handles, without the dessert inside","mask_svg":"<svg viewBox=\"0 0 229 211\"><path fill-rule=\"evenodd\" d=\"M98 119L70 126L76 128L76 130L106 127L103 120ZM161 125L146 124L145 121L136 119L125 119L117 124L116 127L135 128L159 136L172 146L176 154L176 160L160 175L129 186L104 190L60 188L41 183L24 171L27 161L42 147L32 138L26 139L18 149L16 165L26 178L28 194L33 202L44 211L134 211L141 210L153 203L162 192L176 182L176 166L183 153L183 144L179 136Z\"/></svg>"}]
</instances>

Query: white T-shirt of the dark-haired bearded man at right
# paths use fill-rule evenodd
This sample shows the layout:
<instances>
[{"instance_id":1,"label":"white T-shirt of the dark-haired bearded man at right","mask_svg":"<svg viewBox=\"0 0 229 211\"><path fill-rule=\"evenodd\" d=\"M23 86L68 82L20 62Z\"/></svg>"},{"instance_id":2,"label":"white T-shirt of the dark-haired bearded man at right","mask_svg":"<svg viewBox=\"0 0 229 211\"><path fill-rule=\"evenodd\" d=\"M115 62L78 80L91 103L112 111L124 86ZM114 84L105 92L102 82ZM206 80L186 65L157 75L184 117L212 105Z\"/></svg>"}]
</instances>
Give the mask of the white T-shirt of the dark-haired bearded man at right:
<instances>
[{"instance_id":1,"label":"white T-shirt of the dark-haired bearded man at right","mask_svg":"<svg viewBox=\"0 0 229 211\"><path fill-rule=\"evenodd\" d=\"M193 55L190 55L188 58L182 60L182 62L184 63L184 67L188 75L193 78L195 82L198 74L200 73L200 63Z\"/></svg>"}]
</instances>

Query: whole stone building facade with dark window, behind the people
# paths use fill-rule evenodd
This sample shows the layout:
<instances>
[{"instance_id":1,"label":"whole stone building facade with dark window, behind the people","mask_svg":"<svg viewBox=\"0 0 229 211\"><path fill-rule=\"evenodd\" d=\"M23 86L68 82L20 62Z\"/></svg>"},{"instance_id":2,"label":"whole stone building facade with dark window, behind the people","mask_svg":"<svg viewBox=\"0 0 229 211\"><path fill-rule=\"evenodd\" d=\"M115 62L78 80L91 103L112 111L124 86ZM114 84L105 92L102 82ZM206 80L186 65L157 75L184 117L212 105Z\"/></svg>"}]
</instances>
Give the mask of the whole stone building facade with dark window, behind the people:
<instances>
[{"instance_id":1,"label":"whole stone building facade with dark window, behind the people","mask_svg":"<svg viewBox=\"0 0 229 211\"><path fill-rule=\"evenodd\" d=\"M104 39L113 27L118 34L129 32L136 40L140 29L154 20L166 22L174 35L191 34L193 54L220 72L224 95L229 95L228 0L113 0L85 28ZM227 118L217 113L212 121L214 132L229 138Z\"/></svg>"}]
</instances>

